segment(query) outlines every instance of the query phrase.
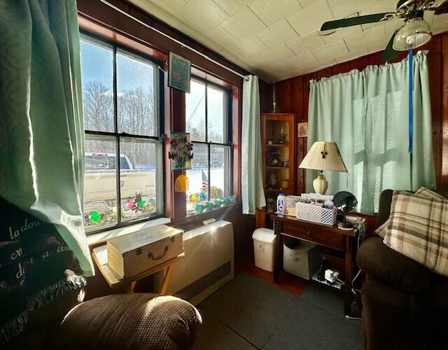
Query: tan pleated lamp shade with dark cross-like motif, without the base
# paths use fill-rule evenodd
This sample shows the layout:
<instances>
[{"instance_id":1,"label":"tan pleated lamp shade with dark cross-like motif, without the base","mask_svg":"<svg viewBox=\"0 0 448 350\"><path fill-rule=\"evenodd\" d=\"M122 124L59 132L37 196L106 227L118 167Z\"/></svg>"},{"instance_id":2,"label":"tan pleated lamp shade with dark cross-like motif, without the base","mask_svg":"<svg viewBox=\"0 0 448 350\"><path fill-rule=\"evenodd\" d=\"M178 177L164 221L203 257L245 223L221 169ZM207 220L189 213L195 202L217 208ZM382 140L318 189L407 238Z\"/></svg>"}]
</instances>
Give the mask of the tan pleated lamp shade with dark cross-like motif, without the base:
<instances>
[{"instance_id":1,"label":"tan pleated lamp shade with dark cross-like motif, without the base","mask_svg":"<svg viewBox=\"0 0 448 350\"><path fill-rule=\"evenodd\" d=\"M299 167L330 172L347 172L336 142L314 142Z\"/></svg>"}]
</instances>

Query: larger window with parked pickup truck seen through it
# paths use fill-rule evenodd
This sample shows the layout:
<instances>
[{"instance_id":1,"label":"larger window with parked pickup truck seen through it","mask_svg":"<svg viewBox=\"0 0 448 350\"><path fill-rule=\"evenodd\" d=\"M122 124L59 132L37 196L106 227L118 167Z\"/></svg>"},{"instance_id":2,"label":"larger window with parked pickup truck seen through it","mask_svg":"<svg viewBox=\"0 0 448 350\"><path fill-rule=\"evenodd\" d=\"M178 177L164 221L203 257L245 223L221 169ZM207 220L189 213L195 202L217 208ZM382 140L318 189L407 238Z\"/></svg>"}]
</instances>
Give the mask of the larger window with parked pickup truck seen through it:
<instances>
[{"instance_id":1,"label":"larger window with parked pickup truck seen through it","mask_svg":"<svg viewBox=\"0 0 448 350\"><path fill-rule=\"evenodd\" d=\"M87 233L163 211L160 73L116 45L80 41L85 125Z\"/></svg>"}]
</instances>

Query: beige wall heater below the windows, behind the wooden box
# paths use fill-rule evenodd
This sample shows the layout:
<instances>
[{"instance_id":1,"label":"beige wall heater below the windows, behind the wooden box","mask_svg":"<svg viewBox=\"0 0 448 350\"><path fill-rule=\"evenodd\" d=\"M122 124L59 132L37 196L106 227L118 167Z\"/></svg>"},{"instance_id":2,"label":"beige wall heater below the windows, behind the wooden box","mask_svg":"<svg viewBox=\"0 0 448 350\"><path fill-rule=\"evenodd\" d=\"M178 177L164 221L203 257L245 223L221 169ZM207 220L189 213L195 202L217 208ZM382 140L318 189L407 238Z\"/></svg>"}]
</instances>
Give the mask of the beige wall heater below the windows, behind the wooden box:
<instances>
[{"instance_id":1,"label":"beige wall heater below the windows, behind the wooden box","mask_svg":"<svg viewBox=\"0 0 448 350\"><path fill-rule=\"evenodd\" d=\"M232 223L216 221L183 234L185 258L172 267L167 294L199 304L234 276ZM155 274L155 290L163 274Z\"/></svg>"}]
</instances>

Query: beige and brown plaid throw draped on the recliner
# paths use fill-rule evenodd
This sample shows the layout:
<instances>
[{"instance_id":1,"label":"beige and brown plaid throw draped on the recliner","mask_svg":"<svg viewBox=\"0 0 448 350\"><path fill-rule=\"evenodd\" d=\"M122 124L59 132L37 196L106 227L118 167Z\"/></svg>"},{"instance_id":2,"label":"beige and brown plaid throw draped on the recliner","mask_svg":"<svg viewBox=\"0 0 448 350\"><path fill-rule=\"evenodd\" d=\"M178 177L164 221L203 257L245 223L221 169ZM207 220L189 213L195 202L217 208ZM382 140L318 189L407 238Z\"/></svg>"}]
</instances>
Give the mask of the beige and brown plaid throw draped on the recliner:
<instances>
[{"instance_id":1,"label":"beige and brown plaid throw draped on the recliner","mask_svg":"<svg viewBox=\"0 0 448 350\"><path fill-rule=\"evenodd\" d=\"M395 191L384 244L448 276L448 200Z\"/></svg>"}]
</instances>

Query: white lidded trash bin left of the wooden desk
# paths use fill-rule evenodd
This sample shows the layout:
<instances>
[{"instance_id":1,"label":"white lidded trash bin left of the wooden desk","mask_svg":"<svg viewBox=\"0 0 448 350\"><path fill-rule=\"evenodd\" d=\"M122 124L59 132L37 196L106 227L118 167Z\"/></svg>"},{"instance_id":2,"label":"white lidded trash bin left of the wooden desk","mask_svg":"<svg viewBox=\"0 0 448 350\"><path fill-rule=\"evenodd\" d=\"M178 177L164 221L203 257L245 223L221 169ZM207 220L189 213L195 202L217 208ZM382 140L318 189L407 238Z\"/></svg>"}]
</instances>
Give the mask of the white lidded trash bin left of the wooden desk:
<instances>
[{"instance_id":1,"label":"white lidded trash bin left of the wooden desk","mask_svg":"<svg viewBox=\"0 0 448 350\"><path fill-rule=\"evenodd\" d=\"M255 266L266 271L274 271L274 230L258 228L253 231L253 253L255 255Z\"/></svg>"}]
</instances>

